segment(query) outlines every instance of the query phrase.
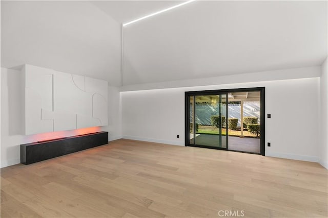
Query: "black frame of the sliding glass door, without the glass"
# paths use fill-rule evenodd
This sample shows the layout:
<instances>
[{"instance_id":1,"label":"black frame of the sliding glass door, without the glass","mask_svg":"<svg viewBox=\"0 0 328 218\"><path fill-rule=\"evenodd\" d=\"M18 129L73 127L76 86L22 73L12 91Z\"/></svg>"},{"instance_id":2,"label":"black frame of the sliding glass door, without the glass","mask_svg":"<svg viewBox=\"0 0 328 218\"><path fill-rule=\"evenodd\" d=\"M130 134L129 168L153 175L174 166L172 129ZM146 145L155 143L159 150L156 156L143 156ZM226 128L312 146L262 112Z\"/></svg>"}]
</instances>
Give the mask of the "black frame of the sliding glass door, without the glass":
<instances>
[{"instance_id":1,"label":"black frame of the sliding glass door, without the glass","mask_svg":"<svg viewBox=\"0 0 328 218\"><path fill-rule=\"evenodd\" d=\"M218 89L218 90L203 90L203 91L186 91L185 92L185 146L190 147L201 147L201 148L209 148L209 149L218 149L218 150L227 150L226 148L217 148L217 147L209 147L209 146L198 146L197 144L190 144L190 127L189 127L189 99L190 96L194 95L209 95L209 94L226 94L228 92L243 92L243 91L260 91L260 154L265 156L265 87L255 87L255 88L237 88L237 89ZM228 106L228 99L227 99ZM193 114L195 116L195 114ZM228 119L228 117L227 117ZM227 123L228 125L228 123ZM227 138L228 132L227 132ZM227 141L228 143L228 141ZM227 148L229 145L227 144ZM229 150L232 151L232 150ZM243 152L243 151L235 151L242 153L252 153L253 152Z\"/></svg>"}]
</instances>

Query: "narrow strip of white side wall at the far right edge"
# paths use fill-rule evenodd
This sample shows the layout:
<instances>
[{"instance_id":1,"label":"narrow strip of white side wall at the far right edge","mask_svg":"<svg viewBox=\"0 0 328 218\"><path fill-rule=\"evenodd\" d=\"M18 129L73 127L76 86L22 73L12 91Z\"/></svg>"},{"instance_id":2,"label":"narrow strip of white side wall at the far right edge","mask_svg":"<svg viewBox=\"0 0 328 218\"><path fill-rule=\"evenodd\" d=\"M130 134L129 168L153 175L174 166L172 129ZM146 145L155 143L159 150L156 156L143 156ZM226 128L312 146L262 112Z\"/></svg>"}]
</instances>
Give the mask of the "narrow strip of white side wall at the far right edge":
<instances>
[{"instance_id":1,"label":"narrow strip of white side wall at the far right edge","mask_svg":"<svg viewBox=\"0 0 328 218\"><path fill-rule=\"evenodd\" d=\"M328 168L328 58L322 63L320 77L320 160Z\"/></svg>"}]
</instances>

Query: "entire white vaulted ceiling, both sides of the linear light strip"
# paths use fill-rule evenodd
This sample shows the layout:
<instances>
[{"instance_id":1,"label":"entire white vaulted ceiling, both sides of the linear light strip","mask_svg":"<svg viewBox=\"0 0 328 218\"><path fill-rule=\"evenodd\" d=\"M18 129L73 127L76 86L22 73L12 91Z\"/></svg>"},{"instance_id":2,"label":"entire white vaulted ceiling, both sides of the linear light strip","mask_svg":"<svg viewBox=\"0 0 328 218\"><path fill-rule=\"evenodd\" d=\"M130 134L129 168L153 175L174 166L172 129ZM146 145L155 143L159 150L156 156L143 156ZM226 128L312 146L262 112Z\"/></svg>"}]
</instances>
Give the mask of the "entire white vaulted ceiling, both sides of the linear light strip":
<instances>
[{"instance_id":1,"label":"entire white vaulted ceiling, both sides of the linear light strip","mask_svg":"<svg viewBox=\"0 0 328 218\"><path fill-rule=\"evenodd\" d=\"M178 1L1 1L1 65L120 82L120 23ZM327 2L195 1L125 27L124 85L318 66Z\"/></svg>"}]
</instances>

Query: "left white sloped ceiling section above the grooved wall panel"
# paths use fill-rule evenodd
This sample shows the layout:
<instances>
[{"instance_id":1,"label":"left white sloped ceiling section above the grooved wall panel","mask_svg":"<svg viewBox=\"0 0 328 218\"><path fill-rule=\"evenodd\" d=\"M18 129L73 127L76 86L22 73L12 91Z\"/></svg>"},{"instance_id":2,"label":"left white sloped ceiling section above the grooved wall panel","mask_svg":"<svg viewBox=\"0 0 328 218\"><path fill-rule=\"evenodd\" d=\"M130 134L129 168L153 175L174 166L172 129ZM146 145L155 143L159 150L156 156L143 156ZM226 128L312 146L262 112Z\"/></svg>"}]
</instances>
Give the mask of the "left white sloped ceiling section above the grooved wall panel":
<instances>
[{"instance_id":1,"label":"left white sloped ceiling section above the grooved wall panel","mask_svg":"<svg viewBox=\"0 0 328 218\"><path fill-rule=\"evenodd\" d=\"M120 23L89 2L1 1L1 66L42 66L120 84Z\"/></svg>"}]
</instances>

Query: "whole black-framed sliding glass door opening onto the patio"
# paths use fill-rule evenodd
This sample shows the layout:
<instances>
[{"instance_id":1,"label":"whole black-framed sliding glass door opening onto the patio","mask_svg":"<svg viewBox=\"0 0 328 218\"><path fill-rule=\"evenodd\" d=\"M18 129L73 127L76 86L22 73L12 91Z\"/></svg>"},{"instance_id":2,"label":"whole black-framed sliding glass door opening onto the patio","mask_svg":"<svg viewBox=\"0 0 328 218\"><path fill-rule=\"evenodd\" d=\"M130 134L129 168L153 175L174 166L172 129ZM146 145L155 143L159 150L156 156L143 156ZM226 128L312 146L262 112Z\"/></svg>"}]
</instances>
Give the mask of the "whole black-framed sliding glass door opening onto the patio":
<instances>
[{"instance_id":1,"label":"whole black-framed sliding glass door opening onto the patio","mask_svg":"<svg viewBox=\"0 0 328 218\"><path fill-rule=\"evenodd\" d=\"M264 100L263 87L186 92L186 146L264 155Z\"/></svg>"}]
</instances>

